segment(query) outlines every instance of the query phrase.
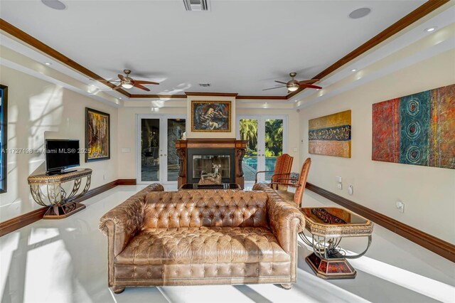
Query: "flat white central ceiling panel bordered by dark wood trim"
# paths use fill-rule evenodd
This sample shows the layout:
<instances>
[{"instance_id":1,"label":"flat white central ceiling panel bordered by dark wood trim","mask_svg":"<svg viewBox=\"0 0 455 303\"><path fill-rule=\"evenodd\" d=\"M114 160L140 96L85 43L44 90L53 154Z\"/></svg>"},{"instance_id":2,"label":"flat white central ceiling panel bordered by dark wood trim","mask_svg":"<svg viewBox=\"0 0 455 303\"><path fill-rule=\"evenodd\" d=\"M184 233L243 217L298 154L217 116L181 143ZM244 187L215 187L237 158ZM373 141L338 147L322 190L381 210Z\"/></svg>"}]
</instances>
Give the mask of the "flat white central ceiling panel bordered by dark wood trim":
<instances>
[{"instance_id":1,"label":"flat white central ceiling panel bordered by dark wood trim","mask_svg":"<svg viewBox=\"0 0 455 303\"><path fill-rule=\"evenodd\" d=\"M1 0L0 17L103 78L129 68L161 83L149 85L152 94L266 96L286 95L262 91L273 80L291 71L313 78L425 1L211 0L208 12L185 11L181 0L63 2L67 9L56 11ZM371 14L348 18L360 7Z\"/></svg>"}]
</instances>

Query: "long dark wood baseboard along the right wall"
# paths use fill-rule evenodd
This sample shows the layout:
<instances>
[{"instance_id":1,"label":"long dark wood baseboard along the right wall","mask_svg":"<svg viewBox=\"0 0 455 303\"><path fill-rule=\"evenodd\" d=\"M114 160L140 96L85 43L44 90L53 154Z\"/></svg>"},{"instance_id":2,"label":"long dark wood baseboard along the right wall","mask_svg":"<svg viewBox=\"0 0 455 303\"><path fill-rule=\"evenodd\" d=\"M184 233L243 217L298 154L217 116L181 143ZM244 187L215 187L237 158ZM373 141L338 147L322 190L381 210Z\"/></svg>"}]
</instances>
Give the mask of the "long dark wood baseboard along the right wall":
<instances>
[{"instance_id":1,"label":"long dark wood baseboard along the right wall","mask_svg":"<svg viewBox=\"0 0 455 303\"><path fill-rule=\"evenodd\" d=\"M327 198L328 200L333 201L340 206L346 207L350 211L358 213L360 216L368 218L374 223L377 223L382 227L387 228L388 230L391 230L392 232L397 233L404 238L407 238L407 240L410 240L424 248L427 248L427 250L431 250L432 252L437 253L441 257L445 257L451 262L455 262L455 245L449 242L436 238L432 235L429 235L428 233L424 233L422 230L413 228L412 226L401 223L398 220L382 215L382 213L373 211L373 209L350 201L347 198L343 198L342 196L338 196L336 193L327 191L326 189L323 189L314 184L307 183L306 188L310 191L313 191L314 193L319 194L319 196L323 196L324 198Z\"/></svg>"}]
</instances>

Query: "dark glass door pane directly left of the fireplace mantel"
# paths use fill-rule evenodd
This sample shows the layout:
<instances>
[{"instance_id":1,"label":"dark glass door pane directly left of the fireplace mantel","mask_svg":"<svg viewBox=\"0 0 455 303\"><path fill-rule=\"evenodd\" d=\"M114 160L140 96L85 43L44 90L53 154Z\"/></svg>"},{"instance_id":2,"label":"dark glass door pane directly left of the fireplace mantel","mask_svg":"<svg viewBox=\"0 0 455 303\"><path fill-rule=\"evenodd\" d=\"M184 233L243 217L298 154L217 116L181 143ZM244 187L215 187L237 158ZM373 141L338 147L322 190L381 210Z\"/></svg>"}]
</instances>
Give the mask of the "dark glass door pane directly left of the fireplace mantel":
<instances>
[{"instance_id":1,"label":"dark glass door pane directly left of the fireplace mantel","mask_svg":"<svg viewBox=\"0 0 455 303\"><path fill-rule=\"evenodd\" d=\"M178 161L175 140L180 140L185 129L186 119L168 119L168 153L167 153L167 181L177 181L180 163Z\"/></svg>"}]
</instances>

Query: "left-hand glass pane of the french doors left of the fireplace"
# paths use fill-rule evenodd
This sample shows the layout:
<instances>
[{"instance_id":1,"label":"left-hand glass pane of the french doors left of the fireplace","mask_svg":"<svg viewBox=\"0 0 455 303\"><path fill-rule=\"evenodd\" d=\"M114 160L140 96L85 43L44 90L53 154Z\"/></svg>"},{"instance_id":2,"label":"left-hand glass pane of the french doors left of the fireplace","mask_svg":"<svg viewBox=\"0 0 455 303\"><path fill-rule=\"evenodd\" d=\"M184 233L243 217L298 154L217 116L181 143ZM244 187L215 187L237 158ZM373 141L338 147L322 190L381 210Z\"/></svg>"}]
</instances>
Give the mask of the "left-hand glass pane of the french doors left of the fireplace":
<instances>
[{"instance_id":1,"label":"left-hand glass pane of the french doors left of the fireplace","mask_svg":"<svg viewBox=\"0 0 455 303\"><path fill-rule=\"evenodd\" d=\"M159 181L159 119L141 119L141 181Z\"/></svg>"}]
</instances>

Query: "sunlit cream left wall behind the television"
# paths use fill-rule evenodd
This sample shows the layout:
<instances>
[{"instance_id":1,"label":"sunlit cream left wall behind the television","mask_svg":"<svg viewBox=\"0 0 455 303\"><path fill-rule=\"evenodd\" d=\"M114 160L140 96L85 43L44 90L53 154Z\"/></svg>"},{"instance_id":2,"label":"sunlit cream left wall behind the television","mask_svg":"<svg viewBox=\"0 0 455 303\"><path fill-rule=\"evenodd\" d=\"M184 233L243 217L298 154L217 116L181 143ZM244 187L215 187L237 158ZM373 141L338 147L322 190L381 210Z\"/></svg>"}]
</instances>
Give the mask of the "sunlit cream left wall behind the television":
<instances>
[{"instance_id":1,"label":"sunlit cream left wall behind the television","mask_svg":"<svg viewBox=\"0 0 455 303\"><path fill-rule=\"evenodd\" d=\"M117 177L117 108L1 66L0 83L8 86L8 148L42 149L45 138L79 139L85 145L85 107L110 114L111 159L80 166L93 170L95 188ZM8 191L0 194L0 221L40 208L31 198L27 178L45 171L44 154L8 154ZM103 175L105 179L103 179Z\"/></svg>"}]
</instances>

